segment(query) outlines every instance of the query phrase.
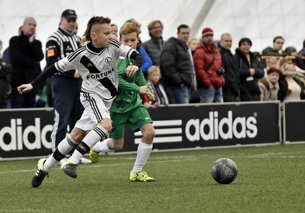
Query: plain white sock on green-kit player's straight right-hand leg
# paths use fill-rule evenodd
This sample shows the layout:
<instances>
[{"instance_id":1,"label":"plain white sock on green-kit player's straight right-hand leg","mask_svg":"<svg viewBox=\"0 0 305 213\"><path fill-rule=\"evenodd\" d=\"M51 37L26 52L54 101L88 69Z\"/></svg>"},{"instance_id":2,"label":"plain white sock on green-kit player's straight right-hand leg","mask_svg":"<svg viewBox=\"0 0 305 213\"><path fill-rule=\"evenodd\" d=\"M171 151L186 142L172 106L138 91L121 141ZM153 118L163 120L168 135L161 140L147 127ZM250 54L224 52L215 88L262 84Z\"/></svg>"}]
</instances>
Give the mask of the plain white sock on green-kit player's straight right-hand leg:
<instances>
[{"instance_id":1,"label":"plain white sock on green-kit player's straight right-hand leg","mask_svg":"<svg viewBox=\"0 0 305 213\"><path fill-rule=\"evenodd\" d=\"M151 149L153 149L153 144L149 145L149 144L143 143L142 141L139 143L136 162L132 169L133 174L142 171L143 166L145 165L145 163L150 155Z\"/></svg>"}]
</instances>

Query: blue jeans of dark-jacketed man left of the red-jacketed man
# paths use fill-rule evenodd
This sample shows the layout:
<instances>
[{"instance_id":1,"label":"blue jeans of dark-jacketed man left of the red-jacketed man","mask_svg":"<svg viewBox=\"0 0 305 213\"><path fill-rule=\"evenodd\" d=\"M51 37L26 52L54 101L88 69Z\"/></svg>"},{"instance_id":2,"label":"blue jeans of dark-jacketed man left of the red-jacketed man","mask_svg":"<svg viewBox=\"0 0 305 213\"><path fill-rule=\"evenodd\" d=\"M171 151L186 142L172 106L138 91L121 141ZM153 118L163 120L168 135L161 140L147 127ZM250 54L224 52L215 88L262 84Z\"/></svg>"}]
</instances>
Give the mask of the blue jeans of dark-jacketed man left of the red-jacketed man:
<instances>
[{"instance_id":1,"label":"blue jeans of dark-jacketed man left of the red-jacketed man","mask_svg":"<svg viewBox=\"0 0 305 213\"><path fill-rule=\"evenodd\" d=\"M170 104L188 104L190 95L189 87L168 85L165 88L166 95Z\"/></svg>"}]
</instances>

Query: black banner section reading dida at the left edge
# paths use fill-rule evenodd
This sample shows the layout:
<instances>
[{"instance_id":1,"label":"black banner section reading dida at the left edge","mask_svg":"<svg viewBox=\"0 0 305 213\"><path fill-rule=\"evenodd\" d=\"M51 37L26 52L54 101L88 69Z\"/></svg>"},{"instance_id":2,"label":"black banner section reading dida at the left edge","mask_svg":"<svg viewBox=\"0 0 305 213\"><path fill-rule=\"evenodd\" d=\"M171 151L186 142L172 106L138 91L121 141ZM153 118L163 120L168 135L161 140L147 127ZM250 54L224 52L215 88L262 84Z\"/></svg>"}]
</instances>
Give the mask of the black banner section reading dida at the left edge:
<instances>
[{"instance_id":1,"label":"black banner section reading dida at the left edge","mask_svg":"<svg viewBox=\"0 0 305 213\"><path fill-rule=\"evenodd\" d=\"M53 108L0 110L0 159L52 154Z\"/></svg>"}]
</instances>

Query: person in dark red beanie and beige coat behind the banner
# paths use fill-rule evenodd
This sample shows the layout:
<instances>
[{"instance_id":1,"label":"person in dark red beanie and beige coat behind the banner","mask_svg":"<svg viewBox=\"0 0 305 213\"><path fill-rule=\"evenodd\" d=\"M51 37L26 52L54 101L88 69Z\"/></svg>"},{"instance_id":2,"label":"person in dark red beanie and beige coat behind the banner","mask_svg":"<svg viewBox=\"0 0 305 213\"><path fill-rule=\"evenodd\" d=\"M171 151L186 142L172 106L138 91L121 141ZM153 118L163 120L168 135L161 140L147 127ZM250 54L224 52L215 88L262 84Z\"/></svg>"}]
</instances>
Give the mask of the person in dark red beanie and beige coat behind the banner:
<instances>
[{"instance_id":1,"label":"person in dark red beanie and beige coat behind the banner","mask_svg":"<svg viewBox=\"0 0 305 213\"><path fill-rule=\"evenodd\" d=\"M271 67L265 76L258 81L261 91L261 101L275 101L278 100L278 92L280 89L279 78L281 71L277 68Z\"/></svg>"}]
</instances>

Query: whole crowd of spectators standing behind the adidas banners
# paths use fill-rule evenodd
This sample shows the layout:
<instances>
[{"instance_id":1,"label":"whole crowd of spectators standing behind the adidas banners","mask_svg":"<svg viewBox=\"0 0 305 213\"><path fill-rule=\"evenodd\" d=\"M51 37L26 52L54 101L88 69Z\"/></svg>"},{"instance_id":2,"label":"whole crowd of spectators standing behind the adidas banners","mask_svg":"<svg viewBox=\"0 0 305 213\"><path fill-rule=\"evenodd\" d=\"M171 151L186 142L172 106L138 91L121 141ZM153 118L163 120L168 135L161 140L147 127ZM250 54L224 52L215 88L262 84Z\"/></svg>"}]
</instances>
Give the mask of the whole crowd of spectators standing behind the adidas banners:
<instances>
[{"instance_id":1,"label":"whole crowd of spectators standing behind the adidas banners","mask_svg":"<svg viewBox=\"0 0 305 213\"><path fill-rule=\"evenodd\" d=\"M22 95L18 94L17 86L30 82L42 72L40 62L44 57L49 67L81 47L76 35L76 19L74 10L65 10L58 29L50 31L46 47L36 39L37 23L33 17L24 19L18 36L10 39L3 54L0 41L0 108L54 107L54 122L58 128L54 130L54 138L58 136L59 141L67 125L73 126L83 111L79 101L82 79L78 71L55 74ZM141 33L139 21L130 18L126 22L135 24ZM119 41L120 26L111 23L111 28L112 39ZM272 45L261 52L252 52L251 38L240 38L238 47L232 49L233 38L228 32L223 32L218 41L213 29L205 27L201 37L196 38L192 36L192 29L181 23L177 26L177 36L165 41L163 28L160 20L151 21L147 25L150 40L139 39L136 46L144 57L141 71L155 96L154 101L149 101L141 95L146 108L305 97L305 59L302 58L305 57L305 40L299 51L293 46L284 49L285 39L275 35L273 42L270 41ZM47 100L42 100L41 96Z\"/></svg>"}]
</instances>

